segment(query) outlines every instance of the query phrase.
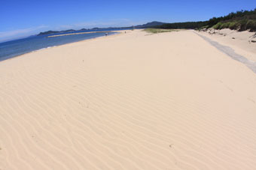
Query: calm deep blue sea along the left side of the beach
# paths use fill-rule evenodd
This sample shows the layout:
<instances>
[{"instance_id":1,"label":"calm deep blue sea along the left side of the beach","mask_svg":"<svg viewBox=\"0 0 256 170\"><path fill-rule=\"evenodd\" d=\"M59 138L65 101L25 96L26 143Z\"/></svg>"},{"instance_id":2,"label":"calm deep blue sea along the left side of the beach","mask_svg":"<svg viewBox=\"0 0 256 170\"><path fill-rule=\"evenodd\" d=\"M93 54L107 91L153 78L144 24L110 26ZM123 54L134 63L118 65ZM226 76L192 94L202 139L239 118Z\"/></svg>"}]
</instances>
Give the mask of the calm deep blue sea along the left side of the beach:
<instances>
[{"instance_id":1,"label":"calm deep blue sea along the left side of the beach","mask_svg":"<svg viewBox=\"0 0 256 170\"><path fill-rule=\"evenodd\" d=\"M117 31L120 29L105 29L100 31ZM87 31L73 31L69 33L77 32L88 32ZM62 33L67 34L67 33ZM108 34L116 34L114 32ZM11 40L8 42L0 43L0 61L6 60L8 58L13 58L17 55L23 55L27 52L32 52L38 49L44 49L50 46L59 46L65 43L73 43L80 40L87 40L95 37L105 36L105 33L96 32L91 34L74 34L60 37L47 37L47 34L41 36L26 37L20 40Z\"/></svg>"}]
</instances>

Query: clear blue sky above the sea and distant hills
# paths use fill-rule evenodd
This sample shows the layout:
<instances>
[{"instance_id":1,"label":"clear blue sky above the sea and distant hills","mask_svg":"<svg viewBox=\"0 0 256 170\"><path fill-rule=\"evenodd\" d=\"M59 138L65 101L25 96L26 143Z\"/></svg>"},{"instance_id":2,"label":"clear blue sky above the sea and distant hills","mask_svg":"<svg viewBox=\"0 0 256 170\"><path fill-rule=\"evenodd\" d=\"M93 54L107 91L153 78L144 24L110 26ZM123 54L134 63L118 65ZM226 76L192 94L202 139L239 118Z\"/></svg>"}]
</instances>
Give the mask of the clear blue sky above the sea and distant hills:
<instances>
[{"instance_id":1,"label":"clear blue sky above the sea and distant hills","mask_svg":"<svg viewBox=\"0 0 256 170\"><path fill-rule=\"evenodd\" d=\"M199 21L255 7L256 0L1 0L0 42L47 30Z\"/></svg>"}]
</instances>

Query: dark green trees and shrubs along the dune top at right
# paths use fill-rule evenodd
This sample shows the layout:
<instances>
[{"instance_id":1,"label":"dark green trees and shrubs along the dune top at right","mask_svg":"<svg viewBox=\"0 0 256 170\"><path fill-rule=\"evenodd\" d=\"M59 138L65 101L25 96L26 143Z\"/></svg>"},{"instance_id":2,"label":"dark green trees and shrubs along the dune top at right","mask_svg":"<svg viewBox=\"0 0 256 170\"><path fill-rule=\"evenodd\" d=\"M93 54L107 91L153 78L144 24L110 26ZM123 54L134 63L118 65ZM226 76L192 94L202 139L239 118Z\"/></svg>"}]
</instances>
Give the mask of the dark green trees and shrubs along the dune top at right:
<instances>
[{"instance_id":1,"label":"dark green trees and shrubs along the dune top at right","mask_svg":"<svg viewBox=\"0 0 256 170\"><path fill-rule=\"evenodd\" d=\"M239 10L236 13L229 13L227 16L213 17L208 21L199 22L175 22L158 25L154 28L173 29L173 28L230 28L238 31L256 31L256 8L254 10Z\"/></svg>"}]
</instances>

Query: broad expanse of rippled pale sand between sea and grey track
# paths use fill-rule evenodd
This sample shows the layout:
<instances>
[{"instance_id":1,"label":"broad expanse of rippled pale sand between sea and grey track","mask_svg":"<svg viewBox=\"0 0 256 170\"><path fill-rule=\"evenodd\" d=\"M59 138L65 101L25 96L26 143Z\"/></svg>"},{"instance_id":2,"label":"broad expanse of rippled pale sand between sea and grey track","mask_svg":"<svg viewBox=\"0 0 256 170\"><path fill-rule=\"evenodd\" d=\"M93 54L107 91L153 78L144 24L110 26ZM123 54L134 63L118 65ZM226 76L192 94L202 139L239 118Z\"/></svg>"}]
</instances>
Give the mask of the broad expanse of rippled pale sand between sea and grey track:
<instances>
[{"instance_id":1,"label":"broad expanse of rippled pale sand between sea and grey track","mask_svg":"<svg viewBox=\"0 0 256 170\"><path fill-rule=\"evenodd\" d=\"M256 169L256 74L193 31L0 62L0 169Z\"/></svg>"}]
</instances>

